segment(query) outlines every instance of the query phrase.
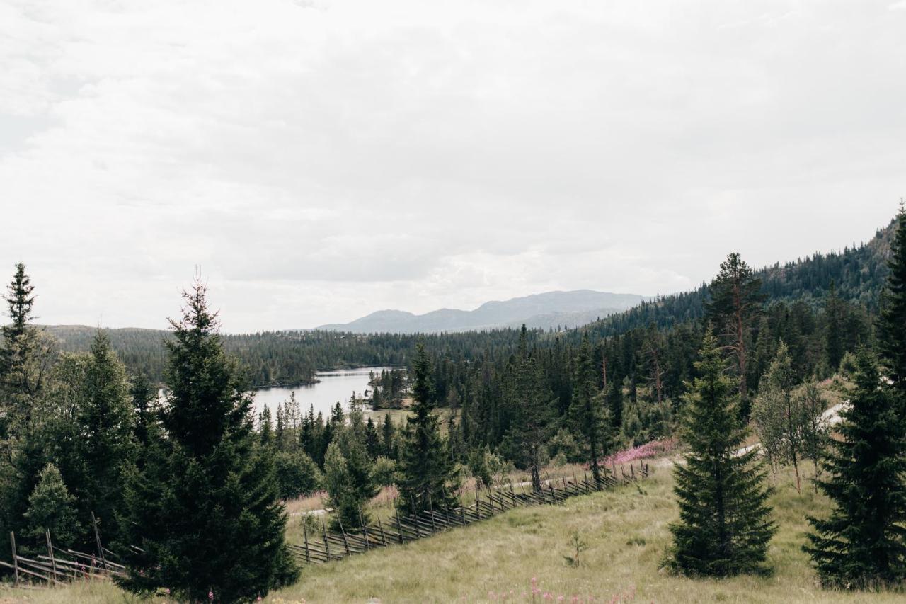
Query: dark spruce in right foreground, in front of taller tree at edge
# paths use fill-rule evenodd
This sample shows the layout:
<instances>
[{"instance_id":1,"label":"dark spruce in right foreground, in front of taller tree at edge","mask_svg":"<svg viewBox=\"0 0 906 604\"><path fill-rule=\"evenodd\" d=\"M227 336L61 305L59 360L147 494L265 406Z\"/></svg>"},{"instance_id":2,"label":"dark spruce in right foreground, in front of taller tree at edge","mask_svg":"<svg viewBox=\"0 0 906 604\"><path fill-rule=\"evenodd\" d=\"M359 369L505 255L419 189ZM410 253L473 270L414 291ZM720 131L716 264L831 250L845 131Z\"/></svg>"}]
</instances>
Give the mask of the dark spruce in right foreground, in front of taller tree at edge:
<instances>
[{"instance_id":1,"label":"dark spruce in right foreground, in front of taller tree at edge","mask_svg":"<svg viewBox=\"0 0 906 604\"><path fill-rule=\"evenodd\" d=\"M834 503L827 519L810 517L805 550L824 585L878 589L906 580L906 446L901 418L882 386L876 361L856 359L849 408L837 426L818 488Z\"/></svg>"}]
</instances>

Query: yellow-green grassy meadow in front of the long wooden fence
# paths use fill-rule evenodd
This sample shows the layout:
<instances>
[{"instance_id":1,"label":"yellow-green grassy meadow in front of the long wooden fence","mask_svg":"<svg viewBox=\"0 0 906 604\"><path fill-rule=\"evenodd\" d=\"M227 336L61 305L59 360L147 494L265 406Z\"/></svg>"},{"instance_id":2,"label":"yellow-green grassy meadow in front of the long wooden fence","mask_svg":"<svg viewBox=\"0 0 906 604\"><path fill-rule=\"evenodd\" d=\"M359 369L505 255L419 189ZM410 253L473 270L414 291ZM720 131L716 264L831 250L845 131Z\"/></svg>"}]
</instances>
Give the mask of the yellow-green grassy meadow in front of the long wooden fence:
<instances>
[{"instance_id":1,"label":"yellow-green grassy meadow in front of the long wooden fence","mask_svg":"<svg viewBox=\"0 0 906 604\"><path fill-rule=\"evenodd\" d=\"M805 513L826 502L801 495L781 475L773 497L780 526L770 549L770 577L689 580L660 570L670 542L667 525L677 509L669 467L649 481L614 492L576 497L557 506L507 511L496 518L428 540L373 551L324 566L307 567L302 579L270 602L902 602L906 595L820 589L801 546ZM571 536L588 544L580 564L567 564ZM545 599L549 593L553 599ZM577 599L573 600L573 597ZM593 598L593 600L591 600ZM0 589L0 603L132 601L111 586L53 591ZM160 601L160 600L158 600Z\"/></svg>"}]
</instances>

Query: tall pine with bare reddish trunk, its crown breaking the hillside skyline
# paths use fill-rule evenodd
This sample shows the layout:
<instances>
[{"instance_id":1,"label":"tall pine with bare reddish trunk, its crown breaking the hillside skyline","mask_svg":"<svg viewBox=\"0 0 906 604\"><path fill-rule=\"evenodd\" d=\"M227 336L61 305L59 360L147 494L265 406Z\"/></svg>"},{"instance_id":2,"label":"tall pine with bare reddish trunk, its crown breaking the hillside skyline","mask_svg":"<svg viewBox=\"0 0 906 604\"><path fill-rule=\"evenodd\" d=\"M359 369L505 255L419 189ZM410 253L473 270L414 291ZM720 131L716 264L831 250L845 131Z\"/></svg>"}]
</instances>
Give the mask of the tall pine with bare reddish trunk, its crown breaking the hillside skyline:
<instances>
[{"instance_id":1,"label":"tall pine with bare reddish trunk, its crown breaking the hillside skyline","mask_svg":"<svg viewBox=\"0 0 906 604\"><path fill-rule=\"evenodd\" d=\"M739 413L748 419L748 346L752 324L761 313L764 296L761 279L737 253L720 263L720 272L711 283L706 305L711 324L717 326L736 360L739 377Z\"/></svg>"}]
</instances>

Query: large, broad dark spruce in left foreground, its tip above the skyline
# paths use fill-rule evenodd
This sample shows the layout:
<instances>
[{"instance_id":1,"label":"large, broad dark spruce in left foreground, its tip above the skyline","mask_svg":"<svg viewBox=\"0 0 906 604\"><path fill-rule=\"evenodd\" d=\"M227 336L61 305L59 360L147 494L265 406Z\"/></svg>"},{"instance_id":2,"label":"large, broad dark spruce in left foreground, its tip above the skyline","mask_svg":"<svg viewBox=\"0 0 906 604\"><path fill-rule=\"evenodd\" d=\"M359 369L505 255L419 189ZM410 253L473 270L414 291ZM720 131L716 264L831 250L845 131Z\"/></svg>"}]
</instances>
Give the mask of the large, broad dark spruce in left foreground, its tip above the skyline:
<instances>
[{"instance_id":1,"label":"large, broad dark spruce in left foreground, its tip above the skyline","mask_svg":"<svg viewBox=\"0 0 906 604\"><path fill-rule=\"evenodd\" d=\"M224 352L206 287L197 280L184 298L167 343L166 434L151 443L144 470L130 472L121 582L142 594L169 588L189 601L209 592L218 601L251 600L297 576L286 516L272 456L256 443L246 379Z\"/></svg>"}]
</instances>

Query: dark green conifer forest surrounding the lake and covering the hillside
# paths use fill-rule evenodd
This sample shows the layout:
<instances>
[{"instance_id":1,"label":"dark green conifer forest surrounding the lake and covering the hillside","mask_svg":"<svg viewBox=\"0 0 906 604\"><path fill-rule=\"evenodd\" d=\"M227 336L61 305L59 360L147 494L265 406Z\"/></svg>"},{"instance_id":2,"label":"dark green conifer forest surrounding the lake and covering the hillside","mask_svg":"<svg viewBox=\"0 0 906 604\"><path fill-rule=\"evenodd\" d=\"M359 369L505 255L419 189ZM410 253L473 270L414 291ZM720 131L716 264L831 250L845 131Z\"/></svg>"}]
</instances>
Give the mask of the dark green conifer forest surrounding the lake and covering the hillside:
<instances>
[{"instance_id":1,"label":"dark green conifer forest surrounding the lake and covering the hillside","mask_svg":"<svg viewBox=\"0 0 906 604\"><path fill-rule=\"evenodd\" d=\"M665 569L768 570L767 475L792 468L801 491L809 463L834 501L805 546L822 584L900 589L906 575L903 211L841 252L758 270L730 253L694 291L571 330L222 335L200 282L169 332L42 327L22 264L5 300L0 529L26 553L47 531L90 548L94 514L134 593L250 601L299 580L284 500L323 490L329 522L354 533L382 487L405 513L442 509L502 465L540 491L552 464L597 480L609 455L671 438L686 463ZM294 399L251 411L255 386L367 365L407 372L328 417ZM829 381L850 401L836 439ZM374 422L363 404L409 415ZM750 431L760 449L736 454Z\"/></svg>"}]
</instances>

